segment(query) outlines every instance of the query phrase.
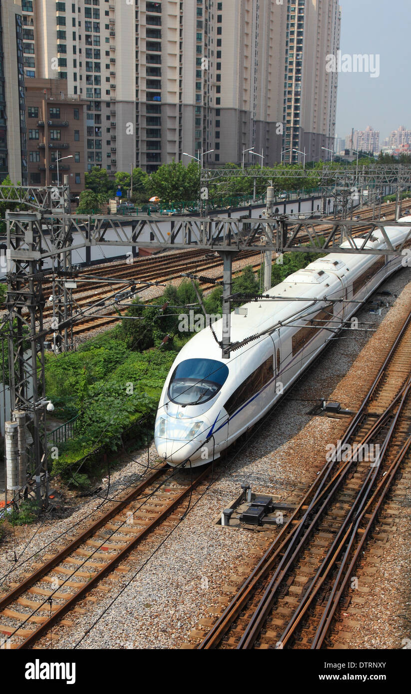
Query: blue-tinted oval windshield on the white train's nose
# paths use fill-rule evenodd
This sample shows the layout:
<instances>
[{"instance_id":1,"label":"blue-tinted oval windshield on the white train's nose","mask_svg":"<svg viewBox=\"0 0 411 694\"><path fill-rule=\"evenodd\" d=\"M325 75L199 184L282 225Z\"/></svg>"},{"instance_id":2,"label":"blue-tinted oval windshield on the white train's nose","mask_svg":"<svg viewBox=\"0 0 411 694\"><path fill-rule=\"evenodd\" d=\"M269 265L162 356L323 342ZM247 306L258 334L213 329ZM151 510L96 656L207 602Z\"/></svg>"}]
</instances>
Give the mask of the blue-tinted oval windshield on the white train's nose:
<instances>
[{"instance_id":1,"label":"blue-tinted oval windshield on the white train's nose","mask_svg":"<svg viewBox=\"0 0 411 694\"><path fill-rule=\"evenodd\" d=\"M186 359L176 367L169 398L178 405L198 405L211 400L226 382L228 367L215 359Z\"/></svg>"}]
</instances>

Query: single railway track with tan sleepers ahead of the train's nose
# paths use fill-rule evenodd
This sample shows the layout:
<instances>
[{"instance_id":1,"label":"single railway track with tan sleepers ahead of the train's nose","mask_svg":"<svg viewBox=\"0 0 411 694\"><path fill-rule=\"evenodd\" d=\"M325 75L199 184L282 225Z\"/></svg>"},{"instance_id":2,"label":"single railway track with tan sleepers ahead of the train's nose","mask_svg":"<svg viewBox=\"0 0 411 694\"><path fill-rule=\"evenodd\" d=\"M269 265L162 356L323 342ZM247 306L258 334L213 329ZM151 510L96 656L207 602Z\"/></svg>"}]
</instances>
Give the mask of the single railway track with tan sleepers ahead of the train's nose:
<instances>
[{"instance_id":1,"label":"single railway track with tan sleepers ahead of the train's nose","mask_svg":"<svg viewBox=\"0 0 411 694\"><path fill-rule=\"evenodd\" d=\"M33 647L78 600L87 600L103 577L121 570L119 563L142 540L164 525L176 525L181 503L207 475L208 466L190 482L181 482L175 470L162 464L131 492L109 501L110 509L101 518L56 555L46 555L34 573L1 595L1 648ZM62 624L69 625L64 620Z\"/></svg>"}]
</instances>

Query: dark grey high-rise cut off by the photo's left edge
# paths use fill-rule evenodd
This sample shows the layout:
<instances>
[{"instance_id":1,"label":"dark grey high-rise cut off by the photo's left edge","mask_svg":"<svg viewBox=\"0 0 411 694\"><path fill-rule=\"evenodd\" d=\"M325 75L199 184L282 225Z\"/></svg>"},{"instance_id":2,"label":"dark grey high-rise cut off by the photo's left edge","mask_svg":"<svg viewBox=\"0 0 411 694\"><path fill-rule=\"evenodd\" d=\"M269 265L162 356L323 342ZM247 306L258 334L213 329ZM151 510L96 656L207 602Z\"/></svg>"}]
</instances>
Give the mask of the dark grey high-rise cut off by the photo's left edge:
<instances>
[{"instance_id":1,"label":"dark grey high-rise cut off by the photo's left edge","mask_svg":"<svg viewBox=\"0 0 411 694\"><path fill-rule=\"evenodd\" d=\"M27 185L22 10L0 1L0 181Z\"/></svg>"}]
</instances>

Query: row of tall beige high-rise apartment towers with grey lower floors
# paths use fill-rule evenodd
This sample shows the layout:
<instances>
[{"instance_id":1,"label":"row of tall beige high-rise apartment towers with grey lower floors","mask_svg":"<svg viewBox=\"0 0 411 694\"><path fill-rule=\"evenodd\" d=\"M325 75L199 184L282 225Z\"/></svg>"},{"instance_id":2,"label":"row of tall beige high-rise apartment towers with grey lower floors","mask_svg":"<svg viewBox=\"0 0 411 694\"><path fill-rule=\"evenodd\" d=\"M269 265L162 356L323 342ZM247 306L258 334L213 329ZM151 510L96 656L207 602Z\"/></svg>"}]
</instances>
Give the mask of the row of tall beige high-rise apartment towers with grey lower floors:
<instances>
[{"instance_id":1,"label":"row of tall beige high-rise apartment towers with grey lower floors","mask_svg":"<svg viewBox=\"0 0 411 694\"><path fill-rule=\"evenodd\" d=\"M337 0L23 0L23 22L26 79L87 101L86 170L333 146Z\"/></svg>"}]
</instances>

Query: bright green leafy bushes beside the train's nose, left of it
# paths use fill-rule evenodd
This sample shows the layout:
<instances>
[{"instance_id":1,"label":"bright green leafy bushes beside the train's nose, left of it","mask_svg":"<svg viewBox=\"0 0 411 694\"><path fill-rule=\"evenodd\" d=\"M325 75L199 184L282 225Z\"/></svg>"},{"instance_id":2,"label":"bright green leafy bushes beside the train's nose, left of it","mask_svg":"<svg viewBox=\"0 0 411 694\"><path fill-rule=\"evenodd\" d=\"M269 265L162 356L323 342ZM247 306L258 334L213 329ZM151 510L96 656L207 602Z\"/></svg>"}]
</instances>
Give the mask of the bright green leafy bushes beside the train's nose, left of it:
<instances>
[{"instance_id":1,"label":"bright green leafy bushes beside the train's nose, left of it","mask_svg":"<svg viewBox=\"0 0 411 694\"><path fill-rule=\"evenodd\" d=\"M130 352L120 334L110 331L65 357L47 355L47 397L54 402L63 389L67 408L75 405L78 413L76 438L58 447L53 474L62 473L79 487L84 480L71 480L71 466L90 456L81 473L92 470L101 451L124 445L125 430L144 416L154 416L174 361L171 351ZM96 448L100 449L97 458L90 455Z\"/></svg>"}]
</instances>

